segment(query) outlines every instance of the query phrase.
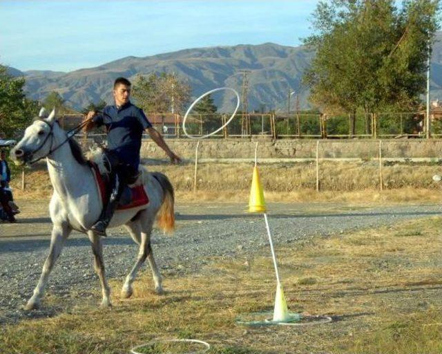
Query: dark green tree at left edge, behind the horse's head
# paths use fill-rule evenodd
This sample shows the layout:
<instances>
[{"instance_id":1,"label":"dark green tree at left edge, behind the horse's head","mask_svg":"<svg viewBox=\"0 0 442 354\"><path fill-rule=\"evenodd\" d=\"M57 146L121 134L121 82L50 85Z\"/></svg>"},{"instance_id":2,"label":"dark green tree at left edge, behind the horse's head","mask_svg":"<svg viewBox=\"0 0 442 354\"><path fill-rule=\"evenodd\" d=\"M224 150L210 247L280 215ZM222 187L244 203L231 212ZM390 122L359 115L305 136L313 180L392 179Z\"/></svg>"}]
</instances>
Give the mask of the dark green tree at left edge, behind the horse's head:
<instances>
[{"instance_id":1,"label":"dark green tree at left edge, behind the horse's head","mask_svg":"<svg viewBox=\"0 0 442 354\"><path fill-rule=\"evenodd\" d=\"M23 77L12 77L6 66L0 65L0 131L5 138L18 138L32 117L38 113L36 101L23 92Z\"/></svg>"}]
</instances>

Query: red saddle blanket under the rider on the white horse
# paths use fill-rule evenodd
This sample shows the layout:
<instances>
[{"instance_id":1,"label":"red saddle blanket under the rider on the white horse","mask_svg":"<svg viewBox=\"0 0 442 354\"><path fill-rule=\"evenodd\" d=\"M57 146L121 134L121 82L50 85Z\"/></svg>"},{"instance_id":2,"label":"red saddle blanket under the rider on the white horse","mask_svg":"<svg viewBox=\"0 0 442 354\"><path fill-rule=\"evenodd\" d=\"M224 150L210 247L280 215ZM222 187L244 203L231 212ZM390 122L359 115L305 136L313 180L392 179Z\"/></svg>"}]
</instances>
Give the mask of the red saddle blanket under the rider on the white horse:
<instances>
[{"instance_id":1,"label":"red saddle blanket under the rider on the white horse","mask_svg":"<svg viewBox=\"0 0 442 354\"><path fill-rule=\"evenodd\" d=\"M90 169L93 172L97 189L102 199L103 205L106 205L111 196L111 188L109 186L109 175L102 174L97 163L89 160ZM141 183L141 174L138 174L137 179L131 185L124 187L123 194L119 199L117 210L131 209L133 207L140 207L147 205L149 198L144 189L144 185Z\"/></svg>"}]
</instances>

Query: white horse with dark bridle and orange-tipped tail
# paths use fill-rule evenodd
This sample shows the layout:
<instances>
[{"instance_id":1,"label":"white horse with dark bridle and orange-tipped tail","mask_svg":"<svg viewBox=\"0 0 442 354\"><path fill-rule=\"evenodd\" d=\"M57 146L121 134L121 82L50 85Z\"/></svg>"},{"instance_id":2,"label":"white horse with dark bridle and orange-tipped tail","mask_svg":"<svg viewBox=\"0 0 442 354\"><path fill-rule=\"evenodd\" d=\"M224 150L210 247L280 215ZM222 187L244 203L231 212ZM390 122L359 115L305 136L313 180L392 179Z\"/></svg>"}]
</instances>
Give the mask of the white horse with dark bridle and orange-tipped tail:
<instances>
[{"instance_id":1,"label":"white horse with dark bridle and orange-tipped tail","mask_svg":"<svg viewBox=\"0 0 442 354\"><path fill-rule=\"evenodd\" d=\"M72 230L88 234L95 256L95 271L102 286L101 306L111 306L110 288L104 274L102 239L89 230L99 218L102 200L93 172L86 164L79 145L73 140L68 140L66 132L55 120L55 111L52 111L46 119L41 118L40 114L40 118L26 129L23 138L11 150L10 156L17 165L46 157L53 187L49 204L53 224L50 250L39 282L25 308L31 310L39 307L50 271ZM149 203L132 209L117 210L109 225L109 227L125 225L133 240L140 245L137 261L122 287L123 298L131 297L132 283L146 258L153 272L155 291L162 294L162 279L152 254L151 231L155 216L158 226L164 232L173 231L175 224L171 183L164 174L148 173L144 167L141 168L141 172L140 178Z\"/></svg>"}]
</instances>

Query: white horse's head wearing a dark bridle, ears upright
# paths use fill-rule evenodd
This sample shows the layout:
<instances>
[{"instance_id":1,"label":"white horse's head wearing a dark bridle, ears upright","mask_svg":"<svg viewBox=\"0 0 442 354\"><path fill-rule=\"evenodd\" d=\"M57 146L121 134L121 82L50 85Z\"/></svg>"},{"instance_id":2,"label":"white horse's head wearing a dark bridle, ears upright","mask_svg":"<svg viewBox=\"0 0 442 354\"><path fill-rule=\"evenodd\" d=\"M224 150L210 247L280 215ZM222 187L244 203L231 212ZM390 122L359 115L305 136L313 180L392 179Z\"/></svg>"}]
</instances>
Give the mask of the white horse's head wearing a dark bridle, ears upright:
<instances>
[{"instance_id":1,"label":"white horse's head wearing a dark bridle, ears upright","mask_svg":"<svg viewBox=\"0 0 442 354\"><path fill-rule=\"evenodd\" d=\"M44 158L50 153L54 139L55 109L46 118L42 108L39 116L26 128L23 138L10 151L10 158L15 165Z\"/></svg>"}]
</instances>

